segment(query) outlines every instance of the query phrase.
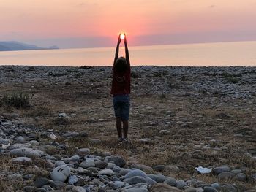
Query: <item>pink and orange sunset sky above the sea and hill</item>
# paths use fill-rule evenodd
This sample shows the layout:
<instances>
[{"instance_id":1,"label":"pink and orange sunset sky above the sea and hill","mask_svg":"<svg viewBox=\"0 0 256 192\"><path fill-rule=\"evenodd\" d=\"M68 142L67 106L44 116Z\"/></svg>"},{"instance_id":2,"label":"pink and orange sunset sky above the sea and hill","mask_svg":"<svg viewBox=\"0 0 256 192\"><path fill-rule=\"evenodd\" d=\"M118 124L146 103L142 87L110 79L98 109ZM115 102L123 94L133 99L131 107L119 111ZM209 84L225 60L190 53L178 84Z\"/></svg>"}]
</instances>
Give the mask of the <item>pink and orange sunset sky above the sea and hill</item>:
<instances>
[{"instance_id":1,"label":"pink and orange sunset sky above the sea and hill","mask_svg":"<svg viewBox=\"0 0 256 192\"><path fill-rule=\"evenodd\" d=\"M0 41L39 46L256 40L256 0L1 0Z\"/></svg>"}]
</instances>

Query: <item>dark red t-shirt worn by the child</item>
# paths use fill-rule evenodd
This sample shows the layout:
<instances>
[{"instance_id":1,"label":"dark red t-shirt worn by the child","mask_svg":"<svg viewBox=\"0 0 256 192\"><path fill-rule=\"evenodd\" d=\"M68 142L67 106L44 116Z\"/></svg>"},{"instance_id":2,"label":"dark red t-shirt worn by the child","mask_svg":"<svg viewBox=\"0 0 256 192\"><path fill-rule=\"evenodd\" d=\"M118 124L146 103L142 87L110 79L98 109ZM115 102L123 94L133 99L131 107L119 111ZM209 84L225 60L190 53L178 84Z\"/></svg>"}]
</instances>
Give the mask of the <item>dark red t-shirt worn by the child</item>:
<instances>
[{"instance_id":1,"label":"dark red t-shirt worn by the child","mask_svg":"<svg viewBox=\"0 0 256 192\"><path fill-rule=\"evenodd\" d=\"M110 93L114 96L131 93L131 67L129 66L126 72L118 73L114 65L112 71L113 80Z\"/></svg>"}]
</instances>

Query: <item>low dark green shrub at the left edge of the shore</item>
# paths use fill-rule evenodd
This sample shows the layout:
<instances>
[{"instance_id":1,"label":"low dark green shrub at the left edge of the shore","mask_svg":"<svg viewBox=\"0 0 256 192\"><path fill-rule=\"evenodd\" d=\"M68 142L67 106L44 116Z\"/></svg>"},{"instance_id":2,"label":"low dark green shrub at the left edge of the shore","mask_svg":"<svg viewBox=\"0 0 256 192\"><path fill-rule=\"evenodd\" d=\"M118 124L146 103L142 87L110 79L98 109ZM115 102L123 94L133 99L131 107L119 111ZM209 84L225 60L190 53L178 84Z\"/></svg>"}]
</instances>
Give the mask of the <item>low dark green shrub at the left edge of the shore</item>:
<instances>
[{"instance_id":1,"label":"low dark green shrub at the left edge of the shore","mask_svg":"<svg viewBox=\"0 0 256 192\"><path fill-rule=\"evenodd\" d=\"M12 92L1 99L1 107L30 107L29 95L26 93Z\"/></svg>"}]
</instances>

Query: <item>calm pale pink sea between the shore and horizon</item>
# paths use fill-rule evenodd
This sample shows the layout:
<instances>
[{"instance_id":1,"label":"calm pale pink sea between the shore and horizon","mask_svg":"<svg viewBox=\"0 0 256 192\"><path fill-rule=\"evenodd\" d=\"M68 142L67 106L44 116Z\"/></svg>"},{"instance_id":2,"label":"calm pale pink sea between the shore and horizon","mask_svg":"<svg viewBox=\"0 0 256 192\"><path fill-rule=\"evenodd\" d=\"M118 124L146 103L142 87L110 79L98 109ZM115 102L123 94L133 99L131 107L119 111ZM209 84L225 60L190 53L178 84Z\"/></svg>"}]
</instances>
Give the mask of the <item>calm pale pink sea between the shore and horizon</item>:
<instances>
[{"instance_id":1,"label":"calm pale pink sea between the shore and horizon","mask_svg":"<svg viewBox=\"0 0 256 192\"><path fill-rule=\"evenodd\" d=\"M115 47L4 51L0 65L111 66L114 53ZM129 47L129 54L132 65L256 66L256 42Z\"/></svg>"}]
</instances>

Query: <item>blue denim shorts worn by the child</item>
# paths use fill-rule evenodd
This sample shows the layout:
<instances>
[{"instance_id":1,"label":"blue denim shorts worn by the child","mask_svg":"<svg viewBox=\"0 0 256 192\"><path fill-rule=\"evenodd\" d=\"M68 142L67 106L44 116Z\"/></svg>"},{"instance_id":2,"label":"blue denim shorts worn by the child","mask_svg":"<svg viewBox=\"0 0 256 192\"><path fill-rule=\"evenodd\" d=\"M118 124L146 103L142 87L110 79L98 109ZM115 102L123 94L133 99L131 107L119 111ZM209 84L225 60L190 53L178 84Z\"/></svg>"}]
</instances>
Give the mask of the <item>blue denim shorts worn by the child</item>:
<instances>
[{"instance_id":1,"label":"blue denim shorts worn by the child","mask_svg":"<svg viewBox=\"0 0 256 192\"><path fill-rule=\"evenodd\" d=\"M113 96L113 107L116 118L129 120L129 95Z\"/></svg>"}]
</instances>

